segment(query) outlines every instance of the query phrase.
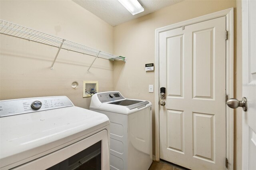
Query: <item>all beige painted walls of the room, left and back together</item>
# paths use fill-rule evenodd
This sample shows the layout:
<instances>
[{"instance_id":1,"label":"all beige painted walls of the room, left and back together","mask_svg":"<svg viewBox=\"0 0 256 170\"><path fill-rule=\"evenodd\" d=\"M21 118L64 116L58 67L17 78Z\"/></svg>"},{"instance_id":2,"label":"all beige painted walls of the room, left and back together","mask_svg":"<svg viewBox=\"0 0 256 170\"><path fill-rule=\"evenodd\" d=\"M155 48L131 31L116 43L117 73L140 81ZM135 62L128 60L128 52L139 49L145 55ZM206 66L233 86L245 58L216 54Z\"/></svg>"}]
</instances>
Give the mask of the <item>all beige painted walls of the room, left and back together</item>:
<instances>
[{"instance_id":1,"label":"all beige painted walls of the room, left and back together","mask_svg":"<svg viewBox=\"0 0 256 170\"><path fill-rule=\"evenodd\" d=\"M61 50L54 70L50 70L58 49L0 35L0 100L66 95L75 105L88 109L90 98L82 98L82 81L98 80L100 91L117 90L127 98L151 101L154 107L154 93L148 93L148 85L154 85L154 72L146 72L144 67L146 63L155 62L155 29L227 8L235 8L234 94L241 99L240 1L187 0L113 28L70 0L1 0L3 20L122 55L127 57L127 62L97 59L87 74L93 57ZM75 90L71 88L73 81L79 83ZM237 110L234 120L235 169L241 169L242 160L241 114L242 111Z\"/></svg>"}]
</instances>

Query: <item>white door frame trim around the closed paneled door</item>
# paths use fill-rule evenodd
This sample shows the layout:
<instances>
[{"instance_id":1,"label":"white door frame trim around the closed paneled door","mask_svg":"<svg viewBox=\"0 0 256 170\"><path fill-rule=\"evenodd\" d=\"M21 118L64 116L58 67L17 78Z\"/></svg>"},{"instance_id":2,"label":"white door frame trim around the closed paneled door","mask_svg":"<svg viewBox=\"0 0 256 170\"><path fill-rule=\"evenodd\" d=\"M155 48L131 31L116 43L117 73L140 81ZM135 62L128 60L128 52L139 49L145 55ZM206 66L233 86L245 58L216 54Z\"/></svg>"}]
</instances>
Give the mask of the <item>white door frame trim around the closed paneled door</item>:
<instances>
[{"instance_id":1,"label":"white door frame trim around the closed paneled door","mask_svg":"<svg viewBox=\"0 0 256 170\"><path fill-rule=\"evenodd\" d=\"M160 160L160 120L159 120L159 34L168 30L182 28L198 22L212 20L226 16L226 95L228 98L234 97L234 8L229 8L212 14L207 14L170 26L156 29L155 32L155 156L154 160ZM225 35L223 35L225 36ZM223 94L225 97L225 94ZM233 169L234 162L234 109L226 106L226 158L228 159L228 169Z\"/></svg>"}]
</instances>

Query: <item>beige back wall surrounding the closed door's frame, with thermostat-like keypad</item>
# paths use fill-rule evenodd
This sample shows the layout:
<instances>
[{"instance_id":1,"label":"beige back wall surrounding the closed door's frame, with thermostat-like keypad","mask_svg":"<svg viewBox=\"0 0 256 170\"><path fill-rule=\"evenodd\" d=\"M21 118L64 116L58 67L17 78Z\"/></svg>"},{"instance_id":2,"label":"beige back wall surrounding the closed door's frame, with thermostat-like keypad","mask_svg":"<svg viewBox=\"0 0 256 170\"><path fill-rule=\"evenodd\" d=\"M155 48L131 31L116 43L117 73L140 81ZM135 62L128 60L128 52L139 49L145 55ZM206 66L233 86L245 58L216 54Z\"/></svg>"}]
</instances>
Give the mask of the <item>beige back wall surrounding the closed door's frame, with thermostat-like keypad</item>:
<instances>
[{"instance_id":1,"label":"beige back wall surrounding the closed door's frame, with thermostat-like keypad","mask_svg":"<svg viewBox=\"0 0 256 170\"><path fill-rule=\"evenodd\" d=\"M125 64L114 63L114 89L121 91L124 96L129 98L151 101L154 107L154 93L148 93L148 85L154 85L154 72L146 72L144 67L146 63L155 62L155 29L227 8L235 8L234 15L236 18L236 3L235 0L185 0L114 27L114 53L120 53L127 57L127 63ZM240 5L240 2L238 2L238 4ZM238 18L240 18L241 10L238 10L238 12L240 13ZM235 31L238 30L240 35L241 26L236 24L235 22ZM236 32L234 36L234 43L236 45ZM241 37L238 36L238 38L239 41L241 41ZM238 49L237 53L240 54L241 50ZM237 59L240 61L241 59L239 57L237 57ZM240 69L242 67L241 62L235 63L234 67ZM237 76L234 83L240 83L241 80L241 76ZM237 86L236 95L240 93L241 88ZM236 125L241 123L240 120L236 122ZM236 132L239 133L236 135L237 138L241 136L239 130ZM155 132L153 132L153 134L154 133ZM236 143L238 145L235 146L235 149L239 151L240 140L237 140L238 142ZM240 156L240 154L238 154L238 156ZM235 165L234 168L241 169L240 157L236 158L235 155L234 159L237 164L237 167Z\"/></svg>"}]
</instances>

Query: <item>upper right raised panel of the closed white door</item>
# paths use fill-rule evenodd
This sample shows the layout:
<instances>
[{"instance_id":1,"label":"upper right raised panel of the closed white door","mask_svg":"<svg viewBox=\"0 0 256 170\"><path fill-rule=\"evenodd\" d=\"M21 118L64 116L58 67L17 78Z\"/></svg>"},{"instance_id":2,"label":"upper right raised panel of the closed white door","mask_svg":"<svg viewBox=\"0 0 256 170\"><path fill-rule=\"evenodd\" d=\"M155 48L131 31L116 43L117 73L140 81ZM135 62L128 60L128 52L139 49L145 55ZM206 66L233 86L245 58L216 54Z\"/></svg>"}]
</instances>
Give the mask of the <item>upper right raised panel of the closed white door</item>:
<instances>
[{"instance_id":1,"label":"upper right raised panel of the closed white door","mask_svg":"<svg viewBox=\"0 0 256 170\"><path fill-rule=\"evenodd\" d=\"M214 77L213 63L214 57L214 28L193 32L193 98L214 99ZM198 43L199 44L198 44ZM198 45L197 45L198 44ZM209 52L210 51L210 52ZM203 57L202 57L203 56ZM199 67L201 65L201 67ZM199 70L198 70L199 69ZM204 88L202 88L204 87Z\"/></svg>"}]
</instances>

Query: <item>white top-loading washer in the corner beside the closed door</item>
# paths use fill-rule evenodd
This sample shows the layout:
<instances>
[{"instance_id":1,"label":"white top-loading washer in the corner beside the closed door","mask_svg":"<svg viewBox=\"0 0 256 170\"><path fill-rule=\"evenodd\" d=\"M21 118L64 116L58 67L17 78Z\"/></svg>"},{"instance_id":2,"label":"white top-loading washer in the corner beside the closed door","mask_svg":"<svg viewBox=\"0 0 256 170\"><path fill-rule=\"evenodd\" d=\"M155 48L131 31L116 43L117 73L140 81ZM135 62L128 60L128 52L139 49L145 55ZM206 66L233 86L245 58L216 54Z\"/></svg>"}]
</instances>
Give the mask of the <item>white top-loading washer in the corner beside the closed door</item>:
<instances>
[{"instance_id":1,"label":"white top-loading washer in the corner beside the closed door","mask_svg":"<svg viewBox=\"0 0 256 170\"><path fill-rule=\"evenodd\" d=\"M152 164L152 104L110 91L93 95L90 110L110 119L110 169L148 170Z\"/></svg>"}]
</instances>

